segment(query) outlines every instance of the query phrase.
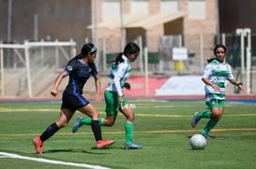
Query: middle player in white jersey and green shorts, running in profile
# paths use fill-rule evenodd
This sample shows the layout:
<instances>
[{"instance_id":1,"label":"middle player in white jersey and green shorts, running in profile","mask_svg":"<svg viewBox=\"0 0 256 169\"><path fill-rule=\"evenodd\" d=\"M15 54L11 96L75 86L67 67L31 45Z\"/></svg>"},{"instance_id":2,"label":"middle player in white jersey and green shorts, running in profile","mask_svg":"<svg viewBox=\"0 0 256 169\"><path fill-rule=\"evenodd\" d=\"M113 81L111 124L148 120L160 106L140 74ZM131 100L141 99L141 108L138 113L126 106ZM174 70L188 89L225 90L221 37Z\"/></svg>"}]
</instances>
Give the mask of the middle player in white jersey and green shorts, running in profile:
<instances>
[{"instance_id":1,"label":"middle player in white jersey and green shorts, running in profile","mask_svg":"<svg viewBox=\"0 0 256 169\"><path fill-rule=\"evenodd\" d=\"M130 89L129 83L126 82L131 73L130 63L133 63L139 54L139 46L130 42L126 45L124 51L120 52L113 60L108 71L109 84L104 92L107 117L106 119L99 118L99 125L113 126L118 111L124 114L127 118L125 123L126 149L143 148L143 146L133 143L133 121L135 114L123 93L123 88ZM91 119L78 118L73 125L72 132L75 133L83 124L90 125Z\"/></svg>"}]
</instances>

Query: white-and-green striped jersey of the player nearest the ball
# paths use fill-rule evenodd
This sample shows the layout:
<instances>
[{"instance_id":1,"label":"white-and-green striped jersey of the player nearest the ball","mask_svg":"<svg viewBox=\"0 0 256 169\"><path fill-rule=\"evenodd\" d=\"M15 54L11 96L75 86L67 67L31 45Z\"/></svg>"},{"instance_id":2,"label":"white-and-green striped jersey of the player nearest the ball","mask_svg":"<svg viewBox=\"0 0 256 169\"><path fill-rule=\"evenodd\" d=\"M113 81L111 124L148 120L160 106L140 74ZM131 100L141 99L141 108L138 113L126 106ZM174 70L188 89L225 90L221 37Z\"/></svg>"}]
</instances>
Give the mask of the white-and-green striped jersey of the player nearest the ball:
<instances>
[{"instance_id":1,"label":"white-and-green striped jersey of the player nearest the ball","mask_svg":"<svg viewBox=\"0 0 256 169\"><path fill-rule=\"evenodd\" d=\"M215 91L210 85L205 85L206 102L212 99L225 99L225 82L233 79L232 68L229 63L219 63L217 60L208 63L204 69L203 77L219 86L219 91Z\"/></svg>"}]
</instances>

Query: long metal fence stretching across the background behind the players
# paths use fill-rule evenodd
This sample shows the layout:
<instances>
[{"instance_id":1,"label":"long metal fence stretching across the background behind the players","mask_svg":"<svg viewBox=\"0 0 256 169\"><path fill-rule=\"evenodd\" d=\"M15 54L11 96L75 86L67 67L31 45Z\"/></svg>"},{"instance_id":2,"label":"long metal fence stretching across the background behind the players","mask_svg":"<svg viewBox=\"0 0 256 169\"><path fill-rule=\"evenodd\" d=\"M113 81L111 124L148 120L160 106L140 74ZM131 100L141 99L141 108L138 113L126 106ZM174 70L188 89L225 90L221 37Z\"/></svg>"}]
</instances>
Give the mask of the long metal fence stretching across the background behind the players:
<instances>
[{"instance_id":1,"label":"long metal fence stretching across the background behind the players","mask_svg":"<svg viewBox=\"0 0 256 169\"><path fill-rule=\"evenodd\" d=\"M251 34L248 37L248 35L222 34L218 37L219 39L217 35L149 35L125 39L126 42L134 41L141 47L140 57L132 63L133 75L144 75L145 71L148 71L148 76L202 75L206 60L214 57L213 48L219 41L228 49L226 60L233 66L234 76L245 78L244 82L249 88L248 93L253 92L256 35ZM49 88L50 83L51 86L53 85L56 74L63 69L70 58L80 52L86 42L92 42L98 46L96 63L98 71L104 74L113 58L123 50L121 41L121 38L99 38L96 44L95 39L85 38L68 41L67 46L57 40L33 42L37 46L32 42L24 42L22 45L1 44L1 96L38 97L42 95ZM182 61L173 60L174 48L188 49L188 58ZM249 62L248 54L251 56ZM243 59L241 59L242 55ZM242 64L244 64L243 71Z\"/></svg>"}]
</instances>

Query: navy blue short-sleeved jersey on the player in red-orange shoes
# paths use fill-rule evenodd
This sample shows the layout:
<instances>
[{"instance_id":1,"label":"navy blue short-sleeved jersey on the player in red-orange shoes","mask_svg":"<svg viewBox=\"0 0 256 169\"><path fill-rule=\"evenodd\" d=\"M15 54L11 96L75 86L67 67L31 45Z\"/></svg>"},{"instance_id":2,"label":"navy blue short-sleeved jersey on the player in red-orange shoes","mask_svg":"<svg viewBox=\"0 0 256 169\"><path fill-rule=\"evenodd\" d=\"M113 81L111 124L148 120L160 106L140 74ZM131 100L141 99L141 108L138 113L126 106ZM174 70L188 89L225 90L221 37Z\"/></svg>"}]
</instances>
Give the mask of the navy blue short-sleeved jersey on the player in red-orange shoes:
<instances>
[{"instance_id":1,"label":"navy blue short-sleeved jersey on the player in red-orange shoes","mask_svg":"<svg viewBox=\"0 0 256 169\"><path fill-rule=\"evenodd\" d=\"M83 86L87 79L91 75L98 75L95 63L83 63L79 59L68 63L68 66L64 69L64 71L66 71L69 75L68 86L65 92L71 94L82 94Z\"/></svg>"}]
</instances>

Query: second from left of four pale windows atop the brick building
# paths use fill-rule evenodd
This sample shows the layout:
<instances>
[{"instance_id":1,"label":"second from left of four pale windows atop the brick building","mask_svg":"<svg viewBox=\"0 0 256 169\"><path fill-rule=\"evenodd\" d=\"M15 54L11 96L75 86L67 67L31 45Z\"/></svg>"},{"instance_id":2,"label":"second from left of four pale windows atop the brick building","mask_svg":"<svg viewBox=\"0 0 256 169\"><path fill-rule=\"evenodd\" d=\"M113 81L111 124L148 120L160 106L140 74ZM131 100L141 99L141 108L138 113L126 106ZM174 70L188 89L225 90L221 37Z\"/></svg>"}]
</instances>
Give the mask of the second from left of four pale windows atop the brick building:
<instances>
[{"instance_id":1,"label":"second from left of four pale windows atop the brick building","mask_svg":"<svg viewBox=\"0 0 256 169\"><path fill-rule=\"evenodd\" d=\"M148 14L148 0L131 0L130 13L132 15Z\"/></svg>"}]
</instances>

